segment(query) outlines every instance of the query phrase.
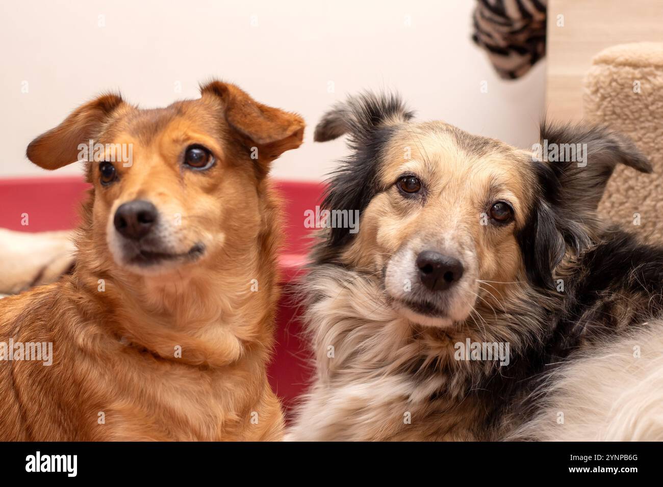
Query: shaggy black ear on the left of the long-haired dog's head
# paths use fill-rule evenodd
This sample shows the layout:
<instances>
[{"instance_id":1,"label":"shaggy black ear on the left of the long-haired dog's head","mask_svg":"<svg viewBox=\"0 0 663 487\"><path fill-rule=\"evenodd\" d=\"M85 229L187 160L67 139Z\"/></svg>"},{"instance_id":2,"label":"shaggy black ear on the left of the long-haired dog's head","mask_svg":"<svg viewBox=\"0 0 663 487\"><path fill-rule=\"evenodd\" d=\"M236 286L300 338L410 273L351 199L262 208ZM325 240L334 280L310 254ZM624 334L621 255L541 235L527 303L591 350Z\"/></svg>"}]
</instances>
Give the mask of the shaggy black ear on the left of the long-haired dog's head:
<instances>
[{"instance_id":1,"label":"shaggy black ear on the left of the long-haired dog's head","mask_svg":"<svg viewBox=\"0 0 663 487\"><path fill-rule=\"evenodd\" d=\"M350 155L331 174L322 206L328 210L361 212L377 192L377 173L383 149L395 127L410 120L410 111L397 94L370 92L337 103L318 123L317 142L348 134ZM330 230L329 245L342 246L353 234L340 227Z\"/></svg>"}]
</instances>

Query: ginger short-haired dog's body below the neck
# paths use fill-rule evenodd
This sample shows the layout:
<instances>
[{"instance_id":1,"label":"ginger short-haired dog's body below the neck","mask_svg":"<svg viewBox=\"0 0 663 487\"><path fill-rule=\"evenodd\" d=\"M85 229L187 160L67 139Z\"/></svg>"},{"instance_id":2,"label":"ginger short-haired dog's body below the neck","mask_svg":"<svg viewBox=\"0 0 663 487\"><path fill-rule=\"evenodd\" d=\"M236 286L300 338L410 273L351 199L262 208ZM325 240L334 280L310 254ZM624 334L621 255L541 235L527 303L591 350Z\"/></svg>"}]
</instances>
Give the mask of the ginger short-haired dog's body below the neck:
<instances>
[{"instance_id":1,"label":"ginger short-haired dog's body below the neck","mask_svg":"<svg viewBox=\"0 0 663 487\"><path fill-rule=\"evenodd\" d=\"M35 290L23 308L12 307L15 298L0 303L16 314L5 316L11 329L3 327L3 341L53 343L50 366L34 360L0 364L0 387L9 395L0 406L4 439L278 439L281 413L263 380L261 352L247 351L241 362L227 366L163 358L110 333L79 309L54 316L52 309L61 308L54 305L56 286ZM173 350L175 345L168 344Z\"/></svg>"}]
</instances>

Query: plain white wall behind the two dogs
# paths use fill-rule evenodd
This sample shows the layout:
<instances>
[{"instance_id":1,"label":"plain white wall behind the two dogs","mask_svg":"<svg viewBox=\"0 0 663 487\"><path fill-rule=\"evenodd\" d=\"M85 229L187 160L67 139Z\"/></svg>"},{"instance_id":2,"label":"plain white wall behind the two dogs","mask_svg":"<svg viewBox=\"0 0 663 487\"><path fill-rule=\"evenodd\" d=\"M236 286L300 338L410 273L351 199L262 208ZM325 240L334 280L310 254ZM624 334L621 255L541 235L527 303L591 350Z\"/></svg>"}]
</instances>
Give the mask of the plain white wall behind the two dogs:
<instances>
[{"instance_id":1,"label":"plain white wall behind the two dogs","mask_svg":"<svg viewBox=\"0 0 663 487\"><path fill-rule=\"evenodd\" d=\"M473 5L471 0L3 1L0 177L46 174L25 158L25 147L99 91L120 89L128 101L156 107L198 97L198 81L211 76L304 116L309 124L304 145L274 165L281 178L315 180L333 168L344 153L343 142L314 144L312 129L331 103L365 88L398 89L421 119L442 119L530 146L543 111L543 63L523 80L499 80L471 42ZM99 16L105 27L99 27ZM479 91L484 80L488 93ZM22 93L25 81L28 93ZM72 165L54 174L79 170Z\"/></svg>"}]
</instances>

